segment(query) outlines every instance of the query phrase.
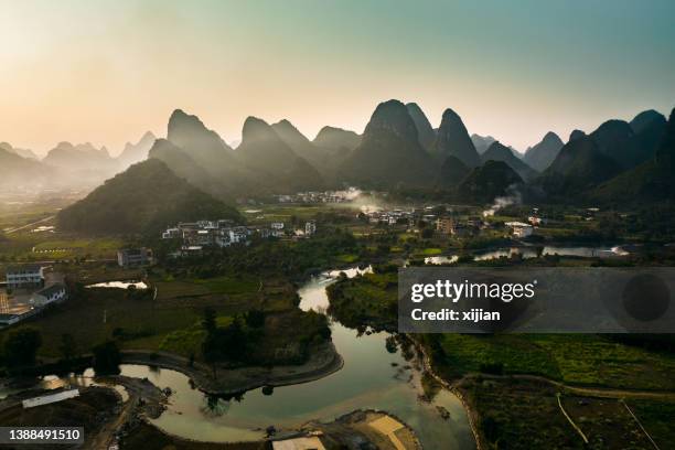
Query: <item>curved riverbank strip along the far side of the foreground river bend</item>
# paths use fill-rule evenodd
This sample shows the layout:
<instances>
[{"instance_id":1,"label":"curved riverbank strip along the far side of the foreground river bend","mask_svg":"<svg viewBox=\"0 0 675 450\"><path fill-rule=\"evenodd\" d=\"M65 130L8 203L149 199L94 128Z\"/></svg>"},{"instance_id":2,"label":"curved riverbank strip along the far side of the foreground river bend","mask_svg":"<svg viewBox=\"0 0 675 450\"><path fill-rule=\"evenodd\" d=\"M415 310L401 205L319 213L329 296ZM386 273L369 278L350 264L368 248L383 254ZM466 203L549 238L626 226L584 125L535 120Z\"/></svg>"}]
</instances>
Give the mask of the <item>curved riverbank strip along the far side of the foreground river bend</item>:
<instances>
[{"instance_id":1,"label":"curved riverbank strip along the far side of the foreground river bend","mask_svg":"<svg viewBox=\"0 0 675 450\"><path fill-rule=\"evenodd\" d=\"M190 377L194 385L210 395L236 395L264 386L286 386L313 382L338 372L344 365L332 342L321 344L310 352L308 361L300 365L274 367L207 366L165 352L128 350L121 352L122 364L142 364L169 368Z\"/></svg>"}]
</instances>

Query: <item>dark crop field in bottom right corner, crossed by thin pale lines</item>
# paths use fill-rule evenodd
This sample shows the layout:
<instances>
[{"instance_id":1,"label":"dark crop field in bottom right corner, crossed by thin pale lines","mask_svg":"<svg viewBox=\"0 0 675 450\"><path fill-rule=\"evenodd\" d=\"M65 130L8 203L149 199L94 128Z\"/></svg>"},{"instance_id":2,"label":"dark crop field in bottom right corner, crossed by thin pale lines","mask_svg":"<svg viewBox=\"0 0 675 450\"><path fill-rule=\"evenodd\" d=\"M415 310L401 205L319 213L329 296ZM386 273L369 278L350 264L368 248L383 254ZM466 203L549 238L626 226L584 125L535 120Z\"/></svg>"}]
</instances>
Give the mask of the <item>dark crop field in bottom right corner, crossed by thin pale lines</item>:
<instances>
[{"instance_id":1,"label":"dark crop field in bottom right corner, crossed by thin pale lines","mask_svg":"<svg viewBox=\"0 0 675 450\"><path fill-rule=\"evenodd\" d=\"M517 379L474 379L464 383L462 390L481 411L479 427L491 443L508 442L510 449L653 448L618 399L565 394L546 384ZM559 394L560 405L589 440L588 444L560 409ZM626 399L625 404L661 448L673 441L669 418L675 404L635 399Z\"/></svg>"}]
</instances>

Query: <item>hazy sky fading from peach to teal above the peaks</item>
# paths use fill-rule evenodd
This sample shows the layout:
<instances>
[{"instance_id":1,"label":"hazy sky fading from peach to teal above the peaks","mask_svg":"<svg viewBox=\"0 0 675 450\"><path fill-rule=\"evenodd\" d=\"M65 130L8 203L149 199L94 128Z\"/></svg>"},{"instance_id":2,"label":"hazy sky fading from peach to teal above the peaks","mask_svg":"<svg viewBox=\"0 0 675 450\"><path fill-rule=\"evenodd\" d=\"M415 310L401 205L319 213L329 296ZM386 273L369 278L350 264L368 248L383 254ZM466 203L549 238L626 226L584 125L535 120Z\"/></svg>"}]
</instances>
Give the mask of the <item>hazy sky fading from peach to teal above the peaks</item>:
<instances>
[{"instance_id":1,"label":"hazy sky fading from peach to teal above the peaks","mask_svg":"<svg viewBox=\"0 0 675 450\"><path fill-rule=\"evenodd\" d=\"M0 141L113 153L174 108L361 132L377 103L446 107L524 149L675 106L675 1L0 0Z\"/></svg>"}]
</instances>

